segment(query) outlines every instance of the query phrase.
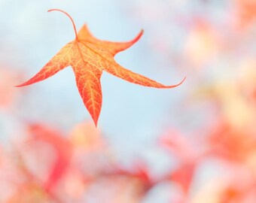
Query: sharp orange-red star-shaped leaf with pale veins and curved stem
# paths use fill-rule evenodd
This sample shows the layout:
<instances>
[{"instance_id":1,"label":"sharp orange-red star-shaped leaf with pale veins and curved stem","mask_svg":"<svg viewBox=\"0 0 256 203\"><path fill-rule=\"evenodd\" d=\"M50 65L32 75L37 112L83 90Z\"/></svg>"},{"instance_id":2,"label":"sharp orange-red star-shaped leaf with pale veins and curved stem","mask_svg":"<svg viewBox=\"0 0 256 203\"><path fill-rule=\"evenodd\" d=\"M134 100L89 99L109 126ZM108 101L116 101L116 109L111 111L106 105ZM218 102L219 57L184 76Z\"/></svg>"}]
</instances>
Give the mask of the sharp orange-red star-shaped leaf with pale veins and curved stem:
<instances>
[{"instance_id":1,"label":"sharp orange-red star-shaped leaf with pale veins and curved stem","mask_svg":"<svg viewBox=\"0 0 256 203\"><path fill-rule=\"evenodd\" d=\"M114 61L114 55L135 44L136 41L141 38L143 30L132 41L102 41L94 38L86 25L77 33L72 17L65 11L59 9L50 9L49 11L60 11L69 17L75 30L75 40L66 44L65 47L62 47L62 49L44 65L38 74L35 74L34 77L19 86L27 86L45 80L53 74L56 74L56 72L71 65L75 72L76 83L81 98L83 98L84 105L93 118L95 125L97 125L102 108L102 87L100 83L102 71L107 71L116 77L142 86L173 88L183 83L185 78L178 84L165 86L148 77L129 71Z\"/></svg>"}]
</instances>

